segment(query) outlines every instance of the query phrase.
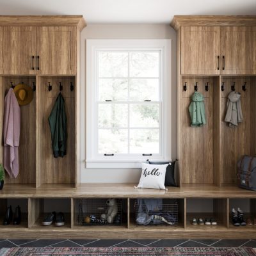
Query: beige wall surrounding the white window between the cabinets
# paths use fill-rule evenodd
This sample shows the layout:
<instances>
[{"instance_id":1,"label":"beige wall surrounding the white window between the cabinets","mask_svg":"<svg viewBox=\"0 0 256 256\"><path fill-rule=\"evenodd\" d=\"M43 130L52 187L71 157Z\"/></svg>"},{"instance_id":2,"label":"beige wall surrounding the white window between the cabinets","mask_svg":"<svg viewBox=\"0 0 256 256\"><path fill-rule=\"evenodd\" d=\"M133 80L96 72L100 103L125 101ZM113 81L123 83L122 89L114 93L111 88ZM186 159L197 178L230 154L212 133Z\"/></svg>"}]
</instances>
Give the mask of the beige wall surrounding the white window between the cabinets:
<instances>
[{"instance_id":1,"label":"beige wall surrounding the white window between the cabinets","mask_svg":"<svg viewBox=\"0 0 256 256\"><path fill-rule=\"evenodd\" d=\"M172 39L172 158L176 157L176 33L165 24L94 24L81 32L81 182L136 183L138 169L86 169L85 168L85 81L86 39ZM170 70L171 72L171 70ZM84 109L84 111L83 111Z\"/></svg>"}]
</instances>

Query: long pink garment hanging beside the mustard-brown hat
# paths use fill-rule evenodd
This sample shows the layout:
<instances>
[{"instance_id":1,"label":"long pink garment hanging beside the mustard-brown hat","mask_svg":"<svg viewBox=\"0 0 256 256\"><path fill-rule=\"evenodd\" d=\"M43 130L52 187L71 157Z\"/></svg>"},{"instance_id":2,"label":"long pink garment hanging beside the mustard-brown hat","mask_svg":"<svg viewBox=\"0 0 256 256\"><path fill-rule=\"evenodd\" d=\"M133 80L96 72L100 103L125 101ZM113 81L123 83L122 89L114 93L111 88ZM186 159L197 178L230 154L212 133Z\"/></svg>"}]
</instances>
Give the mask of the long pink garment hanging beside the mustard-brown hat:
<instances>
[{"instance_id":1,"label":"long pink garment hanging beside the mustard-brown hat","mask_svg":"<svg viewBox=\"0 0 256 256\"><path fill-rule=\"evenodd\" d=\"M20 106L13 89L4 98L4 169L11 178L19 174Z\"/></svg>"}]
</instances>

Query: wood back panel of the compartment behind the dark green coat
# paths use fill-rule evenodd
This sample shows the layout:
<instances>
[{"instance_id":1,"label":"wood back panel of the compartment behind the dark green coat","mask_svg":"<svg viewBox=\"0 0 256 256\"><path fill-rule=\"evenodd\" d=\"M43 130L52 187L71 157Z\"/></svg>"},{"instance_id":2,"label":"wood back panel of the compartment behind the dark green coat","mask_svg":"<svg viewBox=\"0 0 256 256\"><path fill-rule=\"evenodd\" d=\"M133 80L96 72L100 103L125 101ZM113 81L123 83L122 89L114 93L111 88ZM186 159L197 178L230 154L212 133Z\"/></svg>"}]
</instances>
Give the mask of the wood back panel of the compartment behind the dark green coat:
<instances>
[{"instance_id":1,"label":"wood back panel of the compartment behind the dark green coat","mask_svg":"<svg viewBox=\"0 0 256 256\"><path fill-rule=\"evenodd\" d=\"M52 90L48 90L48 82ZM67 155L54 158L51 146L51 132L49 129L48 117L58 97L59 82L63 85L61 94L65 100L65 111L67 115ZM70 82L74 85L74 91L70 91ZM38 145L38 184L75 184L76 183L76 80L74 76L51 76L40 77L38 88L37 105L37 142Z\"/></svg>"}]
</instances>

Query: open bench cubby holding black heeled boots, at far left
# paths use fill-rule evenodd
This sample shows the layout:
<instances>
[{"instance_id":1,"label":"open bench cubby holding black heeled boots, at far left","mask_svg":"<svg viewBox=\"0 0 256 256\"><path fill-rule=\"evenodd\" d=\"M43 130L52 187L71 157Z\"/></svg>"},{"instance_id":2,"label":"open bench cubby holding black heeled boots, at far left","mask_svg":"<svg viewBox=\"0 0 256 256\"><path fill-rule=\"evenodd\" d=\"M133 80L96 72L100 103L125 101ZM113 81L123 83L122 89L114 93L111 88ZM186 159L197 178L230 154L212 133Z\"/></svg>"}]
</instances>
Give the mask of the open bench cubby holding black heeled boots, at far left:
<instances>
[{"instance_id":1,"label":"open bench cubby holding black heeled boots, at far left","mask_svg":"<svg viewBox=\"0 0 256 256\"><path fill-rule=\"evenodd\" d=\"M19 205L21 211L21 222L19 225L13 225L12 220L10 225L3 225L3 220L6 216L7 207L12 206L13 218L15 216L15 208ZM28 228L28 199L27 198L1 198L0 199L0 226L1 228Z\"/></svg>"}]
</instances>

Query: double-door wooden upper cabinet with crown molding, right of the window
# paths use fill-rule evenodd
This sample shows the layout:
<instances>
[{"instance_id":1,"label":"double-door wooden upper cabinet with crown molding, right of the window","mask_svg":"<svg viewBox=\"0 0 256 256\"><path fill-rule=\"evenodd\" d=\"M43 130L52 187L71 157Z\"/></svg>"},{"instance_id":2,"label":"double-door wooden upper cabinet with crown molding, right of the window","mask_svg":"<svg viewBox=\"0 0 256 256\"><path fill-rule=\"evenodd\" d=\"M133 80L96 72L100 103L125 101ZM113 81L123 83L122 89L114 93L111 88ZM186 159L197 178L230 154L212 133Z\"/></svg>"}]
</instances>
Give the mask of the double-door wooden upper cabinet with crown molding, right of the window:
<instances>
[{"instance_id":1,"label":"double-door wooden upper cabinet with crown molding, right of the window","mask_svg":"<svg viewBox=\"0 0 256 256\"><path fill-rule=\"evenodd\" d=\"M175 16L182 75L255 75L254 16Z\"/></svg>"}]
</instances>

